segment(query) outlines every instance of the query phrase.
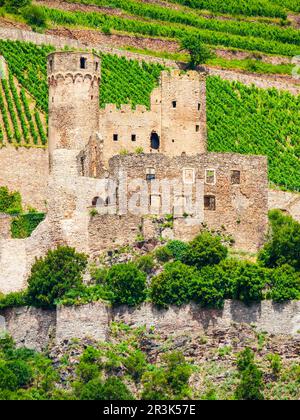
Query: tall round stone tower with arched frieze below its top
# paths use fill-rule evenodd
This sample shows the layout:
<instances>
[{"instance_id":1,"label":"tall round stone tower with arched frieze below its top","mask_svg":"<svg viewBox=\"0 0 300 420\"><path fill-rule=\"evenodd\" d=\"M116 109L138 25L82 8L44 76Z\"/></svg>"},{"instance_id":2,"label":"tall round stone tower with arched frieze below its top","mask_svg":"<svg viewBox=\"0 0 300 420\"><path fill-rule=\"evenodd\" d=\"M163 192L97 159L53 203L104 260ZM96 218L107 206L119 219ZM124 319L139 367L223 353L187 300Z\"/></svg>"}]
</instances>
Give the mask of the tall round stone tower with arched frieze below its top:
<instances>
[{"instance_id":1,"label":"tall round stone tower with arched frieze below its top","mask_svg":"<svg viewBox=\"0 0 300 420\"><path fill-rule=\"evenodd\" d=\"M100 57L55 52L48 56L49 154L82 150L99 131Z\"/></svg>"}]
</instances>

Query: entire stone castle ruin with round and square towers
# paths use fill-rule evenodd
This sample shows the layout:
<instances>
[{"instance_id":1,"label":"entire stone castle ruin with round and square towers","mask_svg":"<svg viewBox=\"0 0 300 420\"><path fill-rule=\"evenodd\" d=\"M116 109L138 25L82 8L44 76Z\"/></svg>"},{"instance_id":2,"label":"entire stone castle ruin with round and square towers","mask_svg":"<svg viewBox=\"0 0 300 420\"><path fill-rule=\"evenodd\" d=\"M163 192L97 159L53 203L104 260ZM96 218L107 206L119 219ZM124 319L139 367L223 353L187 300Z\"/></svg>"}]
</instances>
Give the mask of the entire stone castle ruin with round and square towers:
<instances>
[{"instance_id":1,"label":"entire stone castle ruin with round and square towers","mask_svg":"<svg viewBox=\"0 0 300 420\"><path fill-rule=\"evenodd\" d=\"M0 237L1 292L26 287L35 258L62 244L97 258L137 237L189 240L204 227L241 250L263 244L267 159L207 152L204 73L163 71L150 109L134 110L100 109L94 54L50 54L48 82L47 217L30 238ZM158 233L167 214L172 226Z\"/></svg>"}]
</instances>

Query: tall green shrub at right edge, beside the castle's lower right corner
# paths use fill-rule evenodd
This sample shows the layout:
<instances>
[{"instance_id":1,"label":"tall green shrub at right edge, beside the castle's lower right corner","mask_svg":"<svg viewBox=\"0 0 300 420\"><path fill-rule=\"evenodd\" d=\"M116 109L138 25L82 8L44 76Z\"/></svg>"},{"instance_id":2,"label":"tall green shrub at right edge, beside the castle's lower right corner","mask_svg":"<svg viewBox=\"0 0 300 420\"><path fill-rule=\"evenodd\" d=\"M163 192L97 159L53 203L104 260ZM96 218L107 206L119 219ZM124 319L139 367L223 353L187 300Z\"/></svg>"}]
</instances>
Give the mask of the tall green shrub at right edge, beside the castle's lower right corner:
<instances>
[{"instance_id":1,"label":"tall green shrub at right edge, beside the castle's lower right corner","mask_svg":"<svg viewBox=\"0 0 300 420\"><path fill-rule=\"evenodd\" d=\"M269 213L269 241L259 254L259 261L266 267L289 264L300 270L300 223L279 210Z\"/></svg>"}]
</instances>

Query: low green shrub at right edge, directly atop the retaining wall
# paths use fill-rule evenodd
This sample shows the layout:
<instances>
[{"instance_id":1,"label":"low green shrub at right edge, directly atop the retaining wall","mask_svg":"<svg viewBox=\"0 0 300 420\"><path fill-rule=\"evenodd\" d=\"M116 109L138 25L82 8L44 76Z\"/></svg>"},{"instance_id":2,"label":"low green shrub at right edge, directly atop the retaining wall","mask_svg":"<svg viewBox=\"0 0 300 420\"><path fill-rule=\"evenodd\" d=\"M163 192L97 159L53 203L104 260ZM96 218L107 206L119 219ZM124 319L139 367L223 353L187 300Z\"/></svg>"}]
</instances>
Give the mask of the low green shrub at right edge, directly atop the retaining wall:
<instances>
[{"instance_id":1,"label":"low green shrub at right edge, directly atop the retaining wall","mask_svg":"<svg viewBox=\"0 0 300 420\"><path fill-rule=\"evenodd\" d=\"M268 298L275 302L300 299L300 273L289 265L270 271Z\"/></svg>"}]
</instances>

